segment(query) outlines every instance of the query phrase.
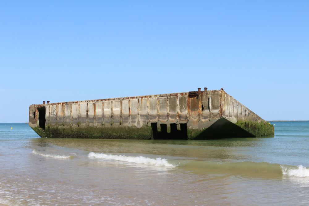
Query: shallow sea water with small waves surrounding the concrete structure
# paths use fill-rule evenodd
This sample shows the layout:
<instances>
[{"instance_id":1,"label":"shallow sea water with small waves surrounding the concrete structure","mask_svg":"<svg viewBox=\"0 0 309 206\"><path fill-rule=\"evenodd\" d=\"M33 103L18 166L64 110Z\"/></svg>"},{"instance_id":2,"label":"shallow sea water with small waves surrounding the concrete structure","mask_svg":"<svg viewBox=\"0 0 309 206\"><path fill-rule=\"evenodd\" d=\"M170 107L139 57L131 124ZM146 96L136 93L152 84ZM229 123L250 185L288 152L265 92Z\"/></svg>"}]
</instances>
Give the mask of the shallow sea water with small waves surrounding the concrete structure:
<instances>
[{"instance_id":1,"label":"shallow sea water with small waves surrounding the concrete structure","mask_svg":"<svg viewBox=\"0 0 309 206\"><path fill-rule=\"evenodd\" d=\"M0 204L307 205L309 122L273 124L273 138L205 141L46 139L0 124Z\"/></svg>"}]
</instances>

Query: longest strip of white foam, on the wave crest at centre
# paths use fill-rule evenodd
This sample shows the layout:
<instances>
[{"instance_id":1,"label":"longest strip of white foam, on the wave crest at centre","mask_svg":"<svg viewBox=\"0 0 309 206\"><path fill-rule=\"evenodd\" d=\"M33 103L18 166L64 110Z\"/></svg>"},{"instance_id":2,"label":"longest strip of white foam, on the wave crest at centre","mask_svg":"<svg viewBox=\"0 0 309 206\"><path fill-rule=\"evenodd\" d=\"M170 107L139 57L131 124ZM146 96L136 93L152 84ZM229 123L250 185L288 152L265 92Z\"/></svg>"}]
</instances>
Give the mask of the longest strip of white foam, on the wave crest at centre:
<instances>
[{"instance_id":1,"label":"longest strip of white foam, on the wave crest at centre","mask_svg":"<svg viewBox=\"0 0 309 206\"><path fill-rule=\"evenodd\" d=\"M151 166L165 166L165 167L175 167L174 165L167 162L166 159L162 158L147 158L143 156L139 157L130 157L125 155L112 155L112 154L104 154L104 153L94 153L91 152L88 154L89 158L97 158L97 159L111 159L111 160L118 160L123 162L130 162L136 164L145 164Z\"/></svg>"}]
</instances>

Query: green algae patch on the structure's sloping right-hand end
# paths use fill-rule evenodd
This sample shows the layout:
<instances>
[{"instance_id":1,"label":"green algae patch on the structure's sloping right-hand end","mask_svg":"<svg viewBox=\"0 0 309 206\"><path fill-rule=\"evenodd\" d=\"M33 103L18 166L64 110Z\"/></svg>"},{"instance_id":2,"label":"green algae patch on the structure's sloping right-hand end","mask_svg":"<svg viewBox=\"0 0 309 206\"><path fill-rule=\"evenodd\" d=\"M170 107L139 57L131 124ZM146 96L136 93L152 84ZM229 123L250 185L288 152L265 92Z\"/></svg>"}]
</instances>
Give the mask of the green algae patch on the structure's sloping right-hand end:
<instances>
[{"instance_id":1,"label":"green algae patch on the structure's sloping right-hand end","mask_svg":"<svg viewBox=\"0 0 309 206\"><path fill-rule=\"evenodd\" d=\"M267 137L275 134L273 125L268 122L237 121L235 124L255 137Z\"/></svg>"}]
</instances>

